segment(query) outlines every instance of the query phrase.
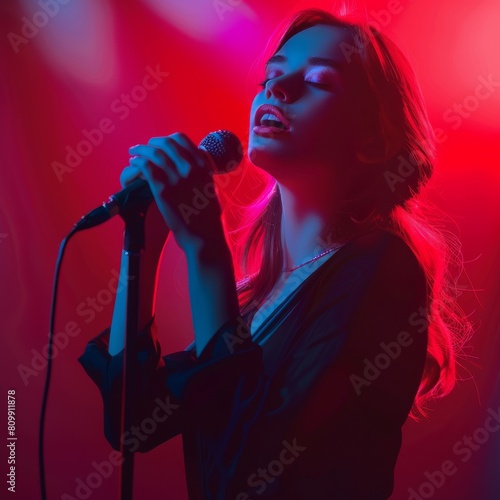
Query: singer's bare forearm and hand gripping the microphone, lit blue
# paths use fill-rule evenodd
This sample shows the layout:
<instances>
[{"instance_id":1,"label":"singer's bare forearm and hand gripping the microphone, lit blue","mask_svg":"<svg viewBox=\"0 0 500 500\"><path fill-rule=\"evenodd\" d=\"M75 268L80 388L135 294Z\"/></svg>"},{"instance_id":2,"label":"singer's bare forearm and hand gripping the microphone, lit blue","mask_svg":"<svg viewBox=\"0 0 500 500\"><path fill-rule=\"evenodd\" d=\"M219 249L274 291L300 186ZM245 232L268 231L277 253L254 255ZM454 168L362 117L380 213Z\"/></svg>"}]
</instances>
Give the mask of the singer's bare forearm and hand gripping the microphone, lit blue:
<instances>
[{"instance_id":1,"label":"singer's bare forearm and hand gripping the microphone, lit blue","mask_svg":"<svg viewBox=\"0 0 500 500\"><path fill-rule=\"evenodd\" d=\"M199 356L215 332L239 314L233 263L224 237L209 159L184 134L155 137L147 145L130 148L130 153L130 166L122 173L122 183L143 177L156 201L146 213L146 253L153 253L151 261L155 255L159 257L154 248L160 248L162 238L168 234L167 227L186 253ZM160 214L163 222L159 220ZM148 238L156 242L153 250ZM141 276L144 274L149 279L144 289L151 292L142 294L143 317L147 319L153 314L154 280L150 279L153 273L141 273ZM121 344L117 346L115 349Z\"/></svg>"}]
</instances>

